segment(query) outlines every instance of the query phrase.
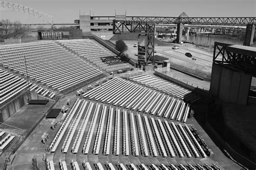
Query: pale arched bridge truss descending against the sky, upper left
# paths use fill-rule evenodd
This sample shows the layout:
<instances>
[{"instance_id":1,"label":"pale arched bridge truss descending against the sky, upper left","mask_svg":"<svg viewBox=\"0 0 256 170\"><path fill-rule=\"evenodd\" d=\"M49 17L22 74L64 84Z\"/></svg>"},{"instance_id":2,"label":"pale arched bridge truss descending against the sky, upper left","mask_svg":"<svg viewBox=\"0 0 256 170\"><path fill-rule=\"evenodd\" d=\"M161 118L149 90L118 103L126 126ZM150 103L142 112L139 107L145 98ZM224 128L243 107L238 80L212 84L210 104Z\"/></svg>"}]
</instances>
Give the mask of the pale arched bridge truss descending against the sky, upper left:
<instances>
[{"instance_id":1,"label":"pale arched bridge truss descending against the sky, upper left","mask_svg":"<svg viewBox=\"0 0 256 170\"><path fill-rule=\"evenodd\" d=\"M53 23L53 17L50 15L47 15L46 13L43 13L41 11L32 9L28 6L20 5L20 4L15 4L11 2L4 2L0 1L0 7L1 8L7 8L11 10L16 10L24 13L28 13L29 15L32 15L34 17L42 19L46 23Z\"/></svg>"}]
</instances>

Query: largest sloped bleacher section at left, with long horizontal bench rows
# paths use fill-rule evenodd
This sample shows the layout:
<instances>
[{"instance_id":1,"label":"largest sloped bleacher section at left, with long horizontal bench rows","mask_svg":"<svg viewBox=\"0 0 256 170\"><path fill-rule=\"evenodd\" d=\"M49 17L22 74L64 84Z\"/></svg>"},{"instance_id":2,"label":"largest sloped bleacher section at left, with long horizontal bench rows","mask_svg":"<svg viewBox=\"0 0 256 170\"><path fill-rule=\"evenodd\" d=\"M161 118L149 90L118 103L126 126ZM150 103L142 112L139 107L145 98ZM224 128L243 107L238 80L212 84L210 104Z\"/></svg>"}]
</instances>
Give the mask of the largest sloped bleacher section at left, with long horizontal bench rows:
<instances>
[{"instance_id":1,"label":"largest sloped bleacher section at left, with long horizontal bench rows","mask_svg":"<svg viewBox=\"0 0 256 170\"><path fill-rule=\"evenodd\" d=\"M37 83L30 90L52 98L81 82L102 75L102 71L53 41L0 46L0 64ZM53 90L55 92L53 92Z\"/></svg>"}]
</instances>

